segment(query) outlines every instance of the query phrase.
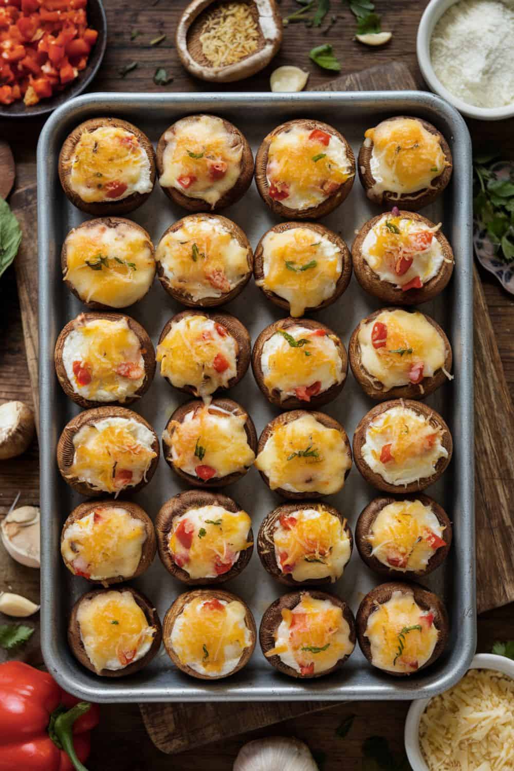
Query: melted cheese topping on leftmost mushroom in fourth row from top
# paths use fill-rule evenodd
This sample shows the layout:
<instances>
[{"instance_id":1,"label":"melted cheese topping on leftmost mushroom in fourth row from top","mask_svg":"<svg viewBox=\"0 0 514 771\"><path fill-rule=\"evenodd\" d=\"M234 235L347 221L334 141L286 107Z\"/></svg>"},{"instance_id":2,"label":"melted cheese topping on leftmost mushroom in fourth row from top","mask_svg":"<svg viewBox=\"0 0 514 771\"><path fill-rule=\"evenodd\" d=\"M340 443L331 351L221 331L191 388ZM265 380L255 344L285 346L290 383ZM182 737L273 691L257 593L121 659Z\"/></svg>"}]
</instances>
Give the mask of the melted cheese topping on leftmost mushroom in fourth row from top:
<instances>
[{"instance_id":1,"label":"melted cheese topping on leftmost mushroom in fourth row from top","mask_svg":"<svg viewBox=\"0 0 514 771\"><path fill-rule=\"evenodd\" d=\"M128 418L104 418L82 426L73 437L73 463L66 475L95 490L116 493L143 479L156 457L153 433Z\"/></svg>"}]
</instances>

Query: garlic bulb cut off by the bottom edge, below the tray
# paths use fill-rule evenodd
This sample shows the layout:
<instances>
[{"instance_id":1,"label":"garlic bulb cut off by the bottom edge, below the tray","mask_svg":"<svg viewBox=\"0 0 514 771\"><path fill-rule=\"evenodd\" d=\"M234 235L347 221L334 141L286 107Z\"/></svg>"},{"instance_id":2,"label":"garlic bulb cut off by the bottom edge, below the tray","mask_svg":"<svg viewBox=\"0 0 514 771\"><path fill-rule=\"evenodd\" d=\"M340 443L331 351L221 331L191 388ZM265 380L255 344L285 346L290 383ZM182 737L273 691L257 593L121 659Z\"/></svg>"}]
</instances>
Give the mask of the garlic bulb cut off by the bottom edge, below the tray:
<instances>
[{"instance_id":1,"label":"garlic bulb cut off by the bottom edge, below the tray","mask_svg":"<svg viewBox=\"0 0 514 771\"><path fill-rule=\"evenodd\" d=\"M304 742L288 736L256 739L241 747L233 771L318 771Z\"/></svg>"}]
</instances>

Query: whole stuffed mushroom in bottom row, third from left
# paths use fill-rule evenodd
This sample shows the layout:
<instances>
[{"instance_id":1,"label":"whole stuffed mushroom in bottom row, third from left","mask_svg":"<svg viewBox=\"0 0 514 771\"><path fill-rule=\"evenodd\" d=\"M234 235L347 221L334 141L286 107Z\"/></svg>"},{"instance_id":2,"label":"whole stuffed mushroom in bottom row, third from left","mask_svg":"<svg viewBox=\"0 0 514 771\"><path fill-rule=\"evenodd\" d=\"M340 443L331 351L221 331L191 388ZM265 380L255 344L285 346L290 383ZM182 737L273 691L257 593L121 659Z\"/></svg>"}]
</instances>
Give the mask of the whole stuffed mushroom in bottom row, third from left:
<instances>
[{"instance_id":1,"label":"whole stuffed mushroom in bottom row, third from left","mask_svg":"<svg viewBox=\"0 0 514 771\"><path fill-rule=\"evenodd\" d=\"M354 616L333 594L294 591L264 612L259 639L267 661L279 672L321 677L340 668L354 650Z\"/></svg>"}]
</instances>

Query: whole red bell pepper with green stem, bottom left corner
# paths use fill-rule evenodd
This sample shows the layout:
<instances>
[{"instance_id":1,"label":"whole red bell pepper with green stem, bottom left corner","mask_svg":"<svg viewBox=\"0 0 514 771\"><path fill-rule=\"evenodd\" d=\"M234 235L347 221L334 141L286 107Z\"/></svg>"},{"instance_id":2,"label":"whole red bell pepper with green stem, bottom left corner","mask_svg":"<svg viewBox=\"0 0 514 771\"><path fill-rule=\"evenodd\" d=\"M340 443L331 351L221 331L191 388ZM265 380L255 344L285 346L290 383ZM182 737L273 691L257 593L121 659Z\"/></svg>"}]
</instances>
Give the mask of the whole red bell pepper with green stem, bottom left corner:
<instances>
[{"instance_id":1,"label":"whole red bell pepper with green stem, bottom left corner","mask_svg":"<svg viewBox=\"0 0 514 771\"><path fill-rule=\"evenodd\" d=\"M48 672L0 665L0 771L87 771L99 706L63 691Z\"/></svg>"}]
</instances>

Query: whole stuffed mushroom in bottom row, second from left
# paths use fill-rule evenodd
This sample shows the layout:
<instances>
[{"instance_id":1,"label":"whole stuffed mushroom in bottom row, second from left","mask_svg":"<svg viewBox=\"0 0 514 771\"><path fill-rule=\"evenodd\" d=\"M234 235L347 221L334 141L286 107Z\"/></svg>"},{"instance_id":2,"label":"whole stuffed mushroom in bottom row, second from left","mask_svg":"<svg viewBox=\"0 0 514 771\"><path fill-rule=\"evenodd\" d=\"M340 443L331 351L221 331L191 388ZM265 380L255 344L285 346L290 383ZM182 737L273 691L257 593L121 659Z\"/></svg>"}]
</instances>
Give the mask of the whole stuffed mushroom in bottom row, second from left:
<instances>
[{"instance_id":1,"label":"whole stuffed mushroom in bottom row, second from left","mask_svg":"<svg viewBox=\"0 0 514 771\"><path fill-rule=\"evenodd\" d=\"M250 608L221 589L180 594L164 617L163 641L176 667L202 680L239 672L257 638Z\"/></svg>"}]
</instances>

